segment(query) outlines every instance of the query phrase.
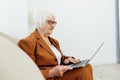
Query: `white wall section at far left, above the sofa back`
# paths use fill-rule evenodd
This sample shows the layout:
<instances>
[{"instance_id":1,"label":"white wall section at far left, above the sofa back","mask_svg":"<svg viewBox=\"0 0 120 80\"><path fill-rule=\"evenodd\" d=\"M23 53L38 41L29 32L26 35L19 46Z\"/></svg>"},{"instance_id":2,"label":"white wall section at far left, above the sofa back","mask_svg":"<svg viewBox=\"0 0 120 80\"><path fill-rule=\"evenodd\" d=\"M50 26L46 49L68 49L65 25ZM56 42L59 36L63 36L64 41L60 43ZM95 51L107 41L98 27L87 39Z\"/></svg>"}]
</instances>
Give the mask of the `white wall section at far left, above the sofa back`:
<instances>
[{"instance_id":1,"label":"white wall section at far left, above the sofa back","mask_svg":"<svg viewBox=\"0 0 120 80\"><path fill-rule=\"evenodd\" d=\"M0 0L0 31L20 38L28 33L27 0Z\"/></svg>"}]
</instances>

